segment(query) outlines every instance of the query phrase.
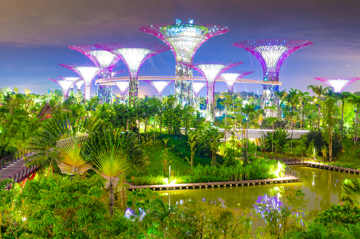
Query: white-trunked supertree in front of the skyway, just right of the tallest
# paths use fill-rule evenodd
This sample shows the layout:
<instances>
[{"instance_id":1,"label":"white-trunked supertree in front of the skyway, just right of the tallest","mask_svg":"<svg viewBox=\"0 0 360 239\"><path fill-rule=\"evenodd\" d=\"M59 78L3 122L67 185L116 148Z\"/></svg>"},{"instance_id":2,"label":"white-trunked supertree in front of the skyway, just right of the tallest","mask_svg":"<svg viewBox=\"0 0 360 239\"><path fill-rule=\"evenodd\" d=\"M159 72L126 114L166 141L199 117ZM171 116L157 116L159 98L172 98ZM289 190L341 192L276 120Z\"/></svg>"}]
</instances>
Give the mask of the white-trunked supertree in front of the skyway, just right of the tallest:
<instances>
[{"instance_id":1,"label":"white-trunked supertree in front of the skyway, just right of the tallest","mask_svg":"<svg viewBox=\"0 0 360 239\"><path fill-rule=\"evenodd\" d=\"M207 81L207 120L215 120L215 79L226 70L243 64L235 61L201 61L194 62L188 67L198 71Z\"/></svg>"}]
</instances>

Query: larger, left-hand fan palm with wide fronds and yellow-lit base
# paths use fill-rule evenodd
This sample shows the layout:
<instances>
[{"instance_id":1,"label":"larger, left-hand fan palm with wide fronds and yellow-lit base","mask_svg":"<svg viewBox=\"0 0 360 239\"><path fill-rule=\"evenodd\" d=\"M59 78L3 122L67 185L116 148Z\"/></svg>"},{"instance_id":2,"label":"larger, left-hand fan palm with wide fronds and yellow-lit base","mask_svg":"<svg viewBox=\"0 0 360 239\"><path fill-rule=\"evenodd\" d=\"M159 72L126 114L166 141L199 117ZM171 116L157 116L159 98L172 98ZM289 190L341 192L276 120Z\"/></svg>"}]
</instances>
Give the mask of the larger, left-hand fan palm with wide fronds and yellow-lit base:
<instances>
[{"instance_id":1,"label":"larger, left-hand fan palm with wide fronds and yellow-lit base","mask_svg":"<svg viewBox=\"0 0 360 239\"><path fill-rule=\"evenodd\" d=\"M53 115L31 139L29 151L37 154L26 159L26 166L42 165L49 157L56 160L63 173L84 173L91 167L82 154L84 143L101 123L96 116L72 118L69 112Z\"/></svg>"}]
</instances>

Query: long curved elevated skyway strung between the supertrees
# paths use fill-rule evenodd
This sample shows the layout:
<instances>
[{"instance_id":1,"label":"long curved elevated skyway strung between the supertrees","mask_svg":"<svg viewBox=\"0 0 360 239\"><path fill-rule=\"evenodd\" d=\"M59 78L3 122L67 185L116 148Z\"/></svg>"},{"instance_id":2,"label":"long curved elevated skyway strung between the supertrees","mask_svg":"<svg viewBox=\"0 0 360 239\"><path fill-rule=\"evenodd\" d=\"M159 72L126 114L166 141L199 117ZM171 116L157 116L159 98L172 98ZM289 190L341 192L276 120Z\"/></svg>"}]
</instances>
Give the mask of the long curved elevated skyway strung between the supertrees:
<instances>
[{"instance_id":1,"label":"long curved elevated skyway strung between the supertrees","mask_svg":"<svg viewBox=\"0 0 360 239\"><path fill-rule=\"evenodd\" d=\"M116 81L129 80L129 77L113 77L102 78L95 81L96 85L114 85ZM176 76L139 76L138 80L205 80L204 77L176 77ZM222 77L216 78L215 81L226 81ZM235 82L249 83L249 84L270 84L270 85L283 85L281 81L264 81L264 80L248 80L238 79Z\"/></svg>"}]
</instances>

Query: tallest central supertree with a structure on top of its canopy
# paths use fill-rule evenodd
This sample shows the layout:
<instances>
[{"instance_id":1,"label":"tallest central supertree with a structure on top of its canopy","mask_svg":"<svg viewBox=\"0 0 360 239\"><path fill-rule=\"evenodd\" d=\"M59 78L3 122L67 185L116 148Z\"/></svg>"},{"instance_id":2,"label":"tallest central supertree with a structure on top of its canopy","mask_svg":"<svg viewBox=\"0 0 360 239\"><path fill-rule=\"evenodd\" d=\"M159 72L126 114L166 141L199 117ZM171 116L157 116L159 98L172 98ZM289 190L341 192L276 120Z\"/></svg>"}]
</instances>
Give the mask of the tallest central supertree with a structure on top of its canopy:
<instances>
[{"instance_id":1,"label":"tallest central supertree with a structure on top of its canopy","mask_svg":"<svg viewBox=\"0 0 360 239\"><path fill-rule=\"evenodd\" d=\"M188 66L192 64L196 50L208 39L229 31L221 25L194 23L193 19L187 23L176 19L175 23L142 26L139 29L160 38L171 48L178 77L192 77L192 69ZM180 104L193 104L191 80L176 80L174 93Z\"/></svg>"}]
</instances>

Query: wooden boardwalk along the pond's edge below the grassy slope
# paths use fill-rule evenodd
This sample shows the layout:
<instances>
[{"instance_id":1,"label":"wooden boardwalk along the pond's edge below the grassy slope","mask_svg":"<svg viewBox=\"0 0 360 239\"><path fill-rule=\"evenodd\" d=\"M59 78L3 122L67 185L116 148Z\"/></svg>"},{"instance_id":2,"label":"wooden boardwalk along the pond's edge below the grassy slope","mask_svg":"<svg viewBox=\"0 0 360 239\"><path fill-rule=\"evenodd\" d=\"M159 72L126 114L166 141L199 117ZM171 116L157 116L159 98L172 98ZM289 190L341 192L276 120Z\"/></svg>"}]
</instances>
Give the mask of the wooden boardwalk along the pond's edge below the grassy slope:
<instances>
[{"instance_id":1,"label":"wooden boardwalk along the pond's edge below the grassy slope","mask_svg":"<svg viewBox=\"0 0 360 239\"><path fill-rule=\"evenodd\" d=\"M161 184L161 185L141 185L135 186L132 183L127 183L130 187L128 190L134 191L135 189L150 188L152 190L163 189L188 189L188 188L207 188L207 187L232 187L232 186L244 186L244 185L260 185L260 184L273 184L273 183L287 183L300 181L299 177L291 174L285 174L285 177L273 178L273 179L259 179L259 180L241 180L241 181L227 181L227 182L203 182L203 183L182 183L182 184Z\"/></svg>"}]
</instances>

